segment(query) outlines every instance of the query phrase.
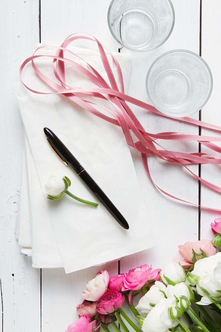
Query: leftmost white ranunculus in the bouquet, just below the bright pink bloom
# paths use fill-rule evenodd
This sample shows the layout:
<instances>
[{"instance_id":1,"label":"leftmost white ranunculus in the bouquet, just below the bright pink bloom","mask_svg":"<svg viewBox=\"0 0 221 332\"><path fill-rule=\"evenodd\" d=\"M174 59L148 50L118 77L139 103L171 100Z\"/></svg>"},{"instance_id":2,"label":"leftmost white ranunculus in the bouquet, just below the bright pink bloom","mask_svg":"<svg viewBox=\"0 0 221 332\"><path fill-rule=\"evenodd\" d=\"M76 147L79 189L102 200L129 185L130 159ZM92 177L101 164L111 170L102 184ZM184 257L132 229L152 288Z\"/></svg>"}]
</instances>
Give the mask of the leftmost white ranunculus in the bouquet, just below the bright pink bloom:
<instances>
[{"instance_id":1,"label":"leftmost white ranunculus in the bouquet, just below the bright pink bloom","mask_svg":"<svg viewBox=\"0 0 221 332\"><path fill-rule=\"evenodd\" d=\"M153 308L150 303L157 304L161 298L164 298L164 294L160 291L166 291L166 286L160 281L156 281L155 285L153 285L148 292L141 297L139 300L136 309L139 310L141 316L147 316L150 310Z\"/></svg>"}]
</instances>

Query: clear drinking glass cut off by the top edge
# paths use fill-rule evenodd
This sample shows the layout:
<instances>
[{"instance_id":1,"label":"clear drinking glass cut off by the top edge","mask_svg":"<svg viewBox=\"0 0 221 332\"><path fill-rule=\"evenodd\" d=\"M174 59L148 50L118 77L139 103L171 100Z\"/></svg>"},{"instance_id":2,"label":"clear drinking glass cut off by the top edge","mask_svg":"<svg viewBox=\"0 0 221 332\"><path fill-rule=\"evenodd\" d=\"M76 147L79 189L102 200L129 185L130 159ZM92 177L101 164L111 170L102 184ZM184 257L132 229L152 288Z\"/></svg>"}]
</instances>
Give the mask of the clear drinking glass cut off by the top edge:
<instances>
[{"instance_id":1,"label":"clear drinking glass cut off by the top edge","mask_svg":"<svg viewBox=\"0 0 221 332\"><path fill-rule=\"evenodd\" d=\"M112 0L108 26L113 38L132 51L149 51L162 45L174 27L170 0Z\"/></svg>"}]
</instances>

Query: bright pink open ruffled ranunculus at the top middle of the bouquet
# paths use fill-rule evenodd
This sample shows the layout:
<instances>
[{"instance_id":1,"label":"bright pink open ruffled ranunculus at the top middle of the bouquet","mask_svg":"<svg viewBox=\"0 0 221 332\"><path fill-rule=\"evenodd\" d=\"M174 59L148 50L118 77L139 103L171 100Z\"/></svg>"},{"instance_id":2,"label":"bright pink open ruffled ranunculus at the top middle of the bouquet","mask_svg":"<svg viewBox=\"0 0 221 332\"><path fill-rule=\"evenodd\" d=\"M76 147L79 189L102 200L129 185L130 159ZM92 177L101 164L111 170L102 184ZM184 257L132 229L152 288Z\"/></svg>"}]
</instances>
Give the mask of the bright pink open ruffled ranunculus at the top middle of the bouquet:
<instances>
[{"instance_id":1,"label":"bright pink open ruffled ranunculus at the top middle of the bouquet","mask_svg":"<svg viewBox=\"0 0 221 332\"><path fill-rule=\"evenodd\" d=\"M148 281L159 281L161 269L152 271L152 266L141 265L123 276L122 291L140 290Z\"/></svg>"}]
</instances>

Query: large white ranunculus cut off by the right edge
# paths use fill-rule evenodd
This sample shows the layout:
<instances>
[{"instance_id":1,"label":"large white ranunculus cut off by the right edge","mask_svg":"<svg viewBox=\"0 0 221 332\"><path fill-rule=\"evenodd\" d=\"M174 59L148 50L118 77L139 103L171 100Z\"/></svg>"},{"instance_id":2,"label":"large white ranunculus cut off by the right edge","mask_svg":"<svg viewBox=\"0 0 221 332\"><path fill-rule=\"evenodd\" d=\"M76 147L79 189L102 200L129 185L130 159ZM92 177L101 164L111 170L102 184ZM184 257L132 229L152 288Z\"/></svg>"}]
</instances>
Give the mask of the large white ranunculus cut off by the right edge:
<instances>
[{"instance_id":1,"label":"large white ranunculus cut off by the right edge","mask_svg":"<svg viewBox=\"0 0 221 332\"><path fill-rule=\"evenodd\" d=\"M221 296L221 293L217 291L221 290L221 252L197 261L191 273L200 277L196 289L203 297L198 304L207 305L212 303L207 296L204 296L205 294L199 286L203 287L213 297L219 298Z\"/></svg>"}]
</instances>

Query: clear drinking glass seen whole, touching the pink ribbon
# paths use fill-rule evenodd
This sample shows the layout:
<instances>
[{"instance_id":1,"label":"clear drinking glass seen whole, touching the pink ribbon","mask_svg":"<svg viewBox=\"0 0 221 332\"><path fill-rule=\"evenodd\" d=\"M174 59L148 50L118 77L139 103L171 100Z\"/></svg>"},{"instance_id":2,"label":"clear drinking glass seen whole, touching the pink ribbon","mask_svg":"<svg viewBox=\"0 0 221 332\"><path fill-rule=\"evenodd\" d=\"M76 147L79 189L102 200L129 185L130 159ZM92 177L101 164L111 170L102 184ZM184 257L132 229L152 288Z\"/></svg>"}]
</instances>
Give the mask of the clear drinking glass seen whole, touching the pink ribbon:
<instances>
[{"instance_id":1,"label":"clear drinking glass seen whole, touching the pink ribbon","mask_svg":"<svg viewBox=\"0 0 221 332\"><path fill-rule=\"evenodd\" d=\"M212 86L212 73L207 63L184 49L159 56L146 78L151 103L172 117L184 117L201 110L211 95Z\"/></svg>"}]
</instances>

